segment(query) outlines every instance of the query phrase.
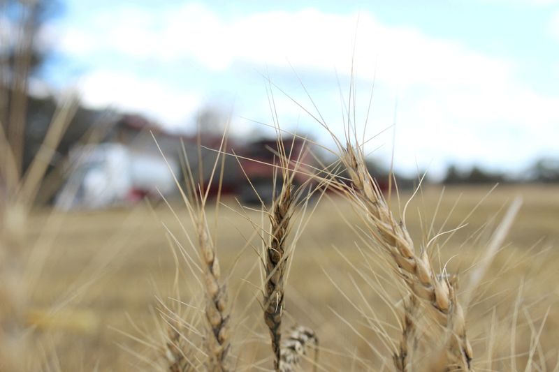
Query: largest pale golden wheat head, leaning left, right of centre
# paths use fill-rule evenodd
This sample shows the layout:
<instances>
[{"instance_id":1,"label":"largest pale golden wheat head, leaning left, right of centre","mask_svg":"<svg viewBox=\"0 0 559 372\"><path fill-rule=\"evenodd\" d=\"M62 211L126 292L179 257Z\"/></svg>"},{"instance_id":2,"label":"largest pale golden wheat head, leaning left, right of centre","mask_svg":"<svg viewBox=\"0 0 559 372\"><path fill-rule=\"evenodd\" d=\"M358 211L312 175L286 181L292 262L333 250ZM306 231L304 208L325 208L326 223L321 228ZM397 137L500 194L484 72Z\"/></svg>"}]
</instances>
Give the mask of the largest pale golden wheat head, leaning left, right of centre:
<instances>
[{"instance_id":1,"label":"largest pale golden wheat head, leaning left, right of centre","mask_svg":"<svg viewBox=\"0 0 559 372\"><path fill-rule=\"evenodd\" d=\"M371 233L398 265L399 274L412 292L430 304L436 320L451 332L444 369L471 370L472 348L466 336L462 306L456 300L456 282L446 275L437 276L430 265L427 252L416 254L414 244L402 221L396 221L365 167L364 156L356 154L351 144L342 152L353 188L347 188L351 198L365 209L371 223Z\"/></svg>"}]
</instances>

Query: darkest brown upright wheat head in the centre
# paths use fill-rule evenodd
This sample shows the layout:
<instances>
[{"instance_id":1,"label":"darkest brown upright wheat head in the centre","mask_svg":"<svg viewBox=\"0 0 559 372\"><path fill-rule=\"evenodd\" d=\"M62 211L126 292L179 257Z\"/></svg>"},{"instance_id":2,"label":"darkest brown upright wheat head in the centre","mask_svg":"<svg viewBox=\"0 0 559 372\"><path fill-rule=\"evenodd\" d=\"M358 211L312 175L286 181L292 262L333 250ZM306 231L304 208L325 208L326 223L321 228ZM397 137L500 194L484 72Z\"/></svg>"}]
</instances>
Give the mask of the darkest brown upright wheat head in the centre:
<instances>
[{"instance_id":1,"label":"darkest brown upright wheat head in the centre","mask_svg":"<svg viewBox=\"0 0 559 372\"><path fill-rule=\"evenodd\" d=\"M274 201L270 214L270 241L266 248L264 283L264 320L270 329L274 368L279 370L282 341L282 311L284 307L284 275L287 267L285 241L289 234L293 195L291 183L284 178L279 198Z\"/></svg>"}]
</instances>

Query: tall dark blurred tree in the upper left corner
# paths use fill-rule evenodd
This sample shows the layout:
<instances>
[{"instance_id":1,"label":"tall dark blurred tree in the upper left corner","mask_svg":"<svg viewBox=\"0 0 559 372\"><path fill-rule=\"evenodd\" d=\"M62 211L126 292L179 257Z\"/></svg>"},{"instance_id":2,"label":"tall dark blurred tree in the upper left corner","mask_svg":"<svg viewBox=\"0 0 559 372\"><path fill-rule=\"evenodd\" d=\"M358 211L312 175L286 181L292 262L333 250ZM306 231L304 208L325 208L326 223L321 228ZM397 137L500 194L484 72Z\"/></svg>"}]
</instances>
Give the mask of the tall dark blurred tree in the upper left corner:
<instances>
[{"instance_id":1,"label":"tall dark blurred tree in the upper left corner","mask_svg":"<svg viewBox=\"0 0 559 372\"><path fill-rule=\"evenodd\" d=\"M29 79L41 79L41 67L48 59L48 49L39 37L45 24L62 10L58 0L0 0L0 140L7 148L0 154L0 191L14 193L19 188L29 165L45 141L52 120L59 108L52 96L36 97L29 91ZM69 124L64 127L56 151L49 156L47 177L41 183L38 201L45 202L61 184L61 160L73 144L85 139L86 133L103 127L114 116L77 107L71 110ZM92 133L94 135L94 133ZM13 169L8 175L8 160ZM52 172L53 170L57 172ZM6 174L2 174L6 173ZM45 190L48 186L48 190Z\"/></svg>"}]
</instances>

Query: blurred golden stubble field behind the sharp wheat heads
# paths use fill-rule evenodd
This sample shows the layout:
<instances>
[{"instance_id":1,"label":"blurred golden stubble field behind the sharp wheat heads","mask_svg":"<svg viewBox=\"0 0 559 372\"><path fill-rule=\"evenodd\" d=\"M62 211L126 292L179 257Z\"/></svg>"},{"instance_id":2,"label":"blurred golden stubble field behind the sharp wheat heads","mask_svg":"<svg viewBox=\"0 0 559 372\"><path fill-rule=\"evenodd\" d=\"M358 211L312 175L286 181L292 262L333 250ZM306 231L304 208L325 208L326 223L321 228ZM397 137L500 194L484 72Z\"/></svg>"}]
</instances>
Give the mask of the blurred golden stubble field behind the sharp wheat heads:
<instances>
[{"instance_id":1,"label":"blurred golden stubble field behind the sharp wheat heads","mask_svg":"<svg viewBox=\"0 0 559 372\"><path fill-rule=\"evenodd\" d=\"M442 189L432 186L416 195L406 218L416 244L419 246L422 239L426 239L423 232L428 230L439 200L440 210L433 226L439 230L447 220L444 229L449 230L467 218L489 189L487 186L449 188L440 199ZM467 218L467 225L440 248L440 255L435 253L435 262L440 261L441 265L448 262L449 271L467 274L471 262L475 262L484 250L492 229L498 223L495 216L502 216L503 206L518 194L523 196L523 207L507 237L507 246L491 266L491 278L487 278L490 281L482 285L483 290L479 294L483 295L483 300L476 298L468 313L468 332L474 355L483 355L489 342L483 335L488 332L486 327L491 324L492 316L502 320L495 327L502 327L502 332L510 332L506 322L512 316L510 309L514 308L519 288L523 285L516 334L518 360L525 359L526 355L522 353L530 347L530 328L538 329L542 317L549 310L546 326L539 338L541 350L537 351L536 357L547 368L553 369L557 361L559 334L558 187L498 187ZM402 203L407 198L409 194L402 195ZM232 200L226 203L235 210L220 207L217 246L222 271L231 273L229 285L234 297L233 324L238 325L232 352L233 355L240 355L242 365L249 362L255 368L270 369L270 359L261 359L270 353L268 334L259 313L259 272L258 269L251 271L258 258L250 244L241 252L247 240L256 248L259 248L259 242L252 237L254 228L239 214L239 208ZM395 198L393 206L397 207ZM191 231L189 218L181 203L175 201L173 208L187 230ZM307 216L309 213L307 211ZM247 216L256 223L261 222L261 217L254 211L247 212ZM210 225L212 218L214 214L210 214ZM180 223L164 204L155 207L154 211L142 205L131 210L68 214L36 211L31 216L27 244L35 241L48 243L52 239L45 267L34 288L33 304L40 311L53 304L64 305L57 315L62 320L45 322L42 331L52 338L52 345L56 345L61 370L89 371L94 367L100 371L136 370L143 364L125 348L145 356L154 353L154 350L124 336L119 330L140 336L138 329L131 325L130 318L139 329L157 333L153 321L154 316L157 317L154 308L158 305L155 296L159 295L162 299L169 297L176 267L170 244L173 238L168 239L169 234L162 223L180 244L191 251ZM266 220L264 223L267 226ZM375 255L363 256L357 246L364 251L369 248L363 245L348 223L357 228L363 225L346 202L326 198L317 205L298 241L286 289L288 321L285 327L289 327L290 320L294 318L317 332L324 348L319 362L326 371L337 371L340 366L347 366L347 370L363 370L367 369L367 363L361 362L360 358L379 358L360 334L365 335L372 345L377 345L375 347L381 352L387 350L383 349L382 341L375 332L366 327L356 307L364 311L368 311L367 304L374 307L379 318L395 325L395 329L389 327L389 332L398 334L398 323L379 299L379 294L375 292L378 288L362 285L363 298L354 287L353 283L364 279L351 265L375 267L376 258ZM446 239L443 236L438 242ZM38 249L47 249L47 246L45 244ZM344 257L333 247L337 247ZM455 257L456 253L460 253L459 258ZM233 265L239 254L240 258ZM196 282L184 261L179 262L181 297L182 301L189 302L189 288ZM378 274L381 277L379 283L383 283L382 271ZM389 286L386 283L386 288ZM235 296L237 292L238 296ZM64 296L64 293L67 295ZM252 301L254 296L257 301ZM395 297L397 300L397 294ZM493 306L497 306L497 310L492 315ZM510 336L502 332L502 339L492 342L495 348L508 350ZM391 355L386 357L390 360ZM498 363L495 361L494 369L499 370ZM390 365L386 366L387 370L390 368Z\"/></svg>"}]
</instances>

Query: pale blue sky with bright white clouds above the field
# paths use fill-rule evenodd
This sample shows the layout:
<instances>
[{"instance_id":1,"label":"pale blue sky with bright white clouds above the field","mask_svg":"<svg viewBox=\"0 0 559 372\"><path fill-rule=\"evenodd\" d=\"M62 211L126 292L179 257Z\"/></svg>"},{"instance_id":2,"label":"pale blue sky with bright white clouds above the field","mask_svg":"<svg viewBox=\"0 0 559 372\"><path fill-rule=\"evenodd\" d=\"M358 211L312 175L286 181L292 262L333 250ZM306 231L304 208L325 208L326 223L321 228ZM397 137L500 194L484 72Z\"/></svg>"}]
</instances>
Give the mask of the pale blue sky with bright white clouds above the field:
<instances>
[{"instance_id":1,"label":"pale blue sky with bright white clouds above the field","mask_svg":"<svg viewBox=\"0 0 559 372\"><path fill-rule=\"evenodd\" d=\"M88 107L170 131L220 107L249 137L273 123L271 89L282 129L331 144L313 117L343 137L350 112L366 150L408 174L441 177L450 163L518 173L559 156L559 1L63 6L43 32L53 50L43 76Z\"/></svg>"}]
</instances>

